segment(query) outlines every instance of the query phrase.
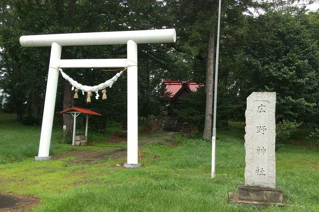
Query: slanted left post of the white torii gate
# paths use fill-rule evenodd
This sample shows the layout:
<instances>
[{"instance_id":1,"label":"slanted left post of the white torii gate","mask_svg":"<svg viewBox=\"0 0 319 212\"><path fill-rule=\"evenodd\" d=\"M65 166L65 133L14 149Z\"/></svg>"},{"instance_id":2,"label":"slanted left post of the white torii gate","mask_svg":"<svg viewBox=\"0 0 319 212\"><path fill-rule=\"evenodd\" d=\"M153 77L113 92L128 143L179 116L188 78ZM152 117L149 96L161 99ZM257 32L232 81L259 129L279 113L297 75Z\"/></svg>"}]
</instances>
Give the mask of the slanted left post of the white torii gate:
<instances>
[{"instance_id":1,"label":"slanted left post of the white torii gate","mask_svg":"<svg viewBox=\"0 0 319 212\"><path fill-rule=\"evenodd\" d=\"M39 153L34 157L36 161L49 160L50 142L52 134L52 124L56 99L56 89L58 86L59 70L58 62L61 58L62 47L57 43L51 45L51 55L49 63L48 78L46 84L45 101L43 109L42 127L40 135Z\"/></svg>"}]
</instances>

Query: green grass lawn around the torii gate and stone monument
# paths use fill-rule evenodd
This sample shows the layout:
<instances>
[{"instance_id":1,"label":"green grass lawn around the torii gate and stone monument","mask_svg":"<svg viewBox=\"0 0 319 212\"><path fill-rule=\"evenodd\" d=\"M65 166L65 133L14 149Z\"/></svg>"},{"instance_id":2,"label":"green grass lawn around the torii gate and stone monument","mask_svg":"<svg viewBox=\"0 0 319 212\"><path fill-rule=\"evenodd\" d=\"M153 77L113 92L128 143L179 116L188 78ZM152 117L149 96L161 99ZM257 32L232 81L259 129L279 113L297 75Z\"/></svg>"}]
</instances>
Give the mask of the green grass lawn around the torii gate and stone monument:
<instances>
[{"instance_id":1,"label":"green grass lawn around the torii gate and stone monument","mask_svg":"<svg viewBox=\"0 0 319 212\"><path fill-rule=\"evenodd\" d=\"M125 156L90 164L73 163L72 157L35 162L39 134L39 127L24 126L13 115L0 113L0 193L40 198L32 208L36 212L319 211L319 145L301 133L293 144L279 143L276 148L277 185L288 206L265 208L228 204L228 192L244 183L242 123L218 130L215 179L210 178L211 144L200 139L175 135L178 145L169 145L167 139L144 145L140 151L145 167L126 169L116 166L126 162ZM93 146L72 147L60 140L60 130L54 129L51 155L125 147L96 134Z\"/></svg>"}]
</instances>

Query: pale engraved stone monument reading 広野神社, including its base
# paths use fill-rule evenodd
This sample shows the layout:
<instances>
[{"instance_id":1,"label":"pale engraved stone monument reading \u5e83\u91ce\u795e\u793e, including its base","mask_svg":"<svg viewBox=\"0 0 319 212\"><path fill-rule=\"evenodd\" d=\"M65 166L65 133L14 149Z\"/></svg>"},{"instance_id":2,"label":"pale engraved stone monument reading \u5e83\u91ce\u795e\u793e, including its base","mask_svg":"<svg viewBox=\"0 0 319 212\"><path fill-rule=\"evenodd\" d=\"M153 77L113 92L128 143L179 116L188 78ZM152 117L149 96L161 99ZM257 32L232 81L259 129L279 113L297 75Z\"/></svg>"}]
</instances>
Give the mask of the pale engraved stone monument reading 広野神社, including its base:
<instances>
[{"instance_id":1,"label":"pale engraved stone monument reading \u5e83\u91ce\u795e\u793e, including its base","mask_svg":"<svg viewBox=\"0 0 319 212\"><path fill-rule=\"evenodd\" d=\"M230 202L284 204L283 192L276 188L275 111L275 92L253 92L247 98L245 185L229 194Z\"/></svg>"}]
</instances>

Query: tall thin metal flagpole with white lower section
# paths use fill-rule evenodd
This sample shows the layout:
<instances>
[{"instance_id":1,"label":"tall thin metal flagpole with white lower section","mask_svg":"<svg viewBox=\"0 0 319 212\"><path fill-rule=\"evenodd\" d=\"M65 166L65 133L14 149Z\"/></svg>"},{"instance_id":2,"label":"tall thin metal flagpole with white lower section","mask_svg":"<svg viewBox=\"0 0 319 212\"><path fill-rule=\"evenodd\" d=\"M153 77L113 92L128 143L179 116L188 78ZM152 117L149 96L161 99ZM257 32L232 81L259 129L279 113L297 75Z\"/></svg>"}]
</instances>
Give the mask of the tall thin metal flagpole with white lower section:
<instances>
[{"instance_id":1,"label":"tall thin metal flagpole with white lower section","mask_svg":"<svg viewBox=\"0 0 319 212\"><path fill-rule=\"evenodd\" d=\"M218 26L216 44L216 66L215 66L215 91L214 91L214 117L213 117L213 137L211 145L211 178L215 178L215 148L216 148L216 109L217 109L217 81L218 81L218 57L219 57L219 31L220 31L220 10L221 0L218 4Z\"/></svg>"}]
</instances>

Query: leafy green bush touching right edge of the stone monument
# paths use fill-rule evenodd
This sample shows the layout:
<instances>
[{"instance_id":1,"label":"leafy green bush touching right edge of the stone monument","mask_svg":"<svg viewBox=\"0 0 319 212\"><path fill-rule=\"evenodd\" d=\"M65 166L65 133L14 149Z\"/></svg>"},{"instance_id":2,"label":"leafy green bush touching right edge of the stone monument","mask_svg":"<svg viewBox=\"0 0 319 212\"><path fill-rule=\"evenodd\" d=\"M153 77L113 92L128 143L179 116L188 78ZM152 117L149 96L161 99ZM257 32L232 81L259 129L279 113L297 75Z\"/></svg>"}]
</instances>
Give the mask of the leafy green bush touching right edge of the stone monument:
<instances>
[{"instance_id":1,"label":"leafy green bush touching right edge of the stone monument","mask_svg":"<svg viewBox=\"0 0 319 212\"><path fill-rule=\"evenodd\" d=\"M278 140L287 140L290 136L297 131L297 128L302 123L295 121L283 120L276 124L276 138Z\"/></svg>"}]
</instances>

